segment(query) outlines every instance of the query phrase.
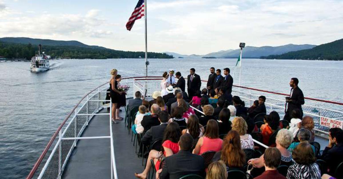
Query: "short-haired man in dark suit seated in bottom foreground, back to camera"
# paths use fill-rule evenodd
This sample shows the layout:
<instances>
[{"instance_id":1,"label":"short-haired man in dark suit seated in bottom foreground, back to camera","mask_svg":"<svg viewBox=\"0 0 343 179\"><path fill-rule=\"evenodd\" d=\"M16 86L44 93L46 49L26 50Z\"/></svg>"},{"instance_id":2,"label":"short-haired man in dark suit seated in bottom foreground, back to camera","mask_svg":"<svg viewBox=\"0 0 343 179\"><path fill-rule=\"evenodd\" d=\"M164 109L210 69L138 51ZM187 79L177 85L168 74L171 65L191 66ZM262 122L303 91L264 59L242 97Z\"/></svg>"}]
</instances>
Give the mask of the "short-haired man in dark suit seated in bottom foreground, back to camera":
<instances>
[{"instance_id":1,"label":"short-haired man in dark suit seated in bottom foreground, back to camera","mask_svg":"<svg viewBox=\"0 0 343 179\"><path fill-rule=\"evenodd\" d=\"M189 174L205 177L204 158L191 153L193 137L185 133L180 137L178 144L179 152L166 157L162 171L158 170L156 175L159 175L160 179L179 179Z\"/></svg>"}]
</instances>

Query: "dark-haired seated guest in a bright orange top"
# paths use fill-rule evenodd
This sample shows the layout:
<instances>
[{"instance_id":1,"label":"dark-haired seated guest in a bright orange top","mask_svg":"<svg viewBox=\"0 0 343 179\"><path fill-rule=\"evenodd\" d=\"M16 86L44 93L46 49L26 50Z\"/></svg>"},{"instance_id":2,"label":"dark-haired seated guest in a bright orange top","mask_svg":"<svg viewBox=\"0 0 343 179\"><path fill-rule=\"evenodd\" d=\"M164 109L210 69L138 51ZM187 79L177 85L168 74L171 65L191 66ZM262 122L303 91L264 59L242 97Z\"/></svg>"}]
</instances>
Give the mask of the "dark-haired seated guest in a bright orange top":
<instances>
[{"instance_id":1,"label":"dark-haired seated guest in a bright orange top","mask_svg":"<svg viewBox=\"0 0 343 179\"><path fill-rule=\"evenodd\" d=\"M263 136L263 143L268 145L269 138L276 130L280 129L280 116L276 111L272 111L265 116L265 124L261 126L261 133Z\"/></svg>"}]
</instances>

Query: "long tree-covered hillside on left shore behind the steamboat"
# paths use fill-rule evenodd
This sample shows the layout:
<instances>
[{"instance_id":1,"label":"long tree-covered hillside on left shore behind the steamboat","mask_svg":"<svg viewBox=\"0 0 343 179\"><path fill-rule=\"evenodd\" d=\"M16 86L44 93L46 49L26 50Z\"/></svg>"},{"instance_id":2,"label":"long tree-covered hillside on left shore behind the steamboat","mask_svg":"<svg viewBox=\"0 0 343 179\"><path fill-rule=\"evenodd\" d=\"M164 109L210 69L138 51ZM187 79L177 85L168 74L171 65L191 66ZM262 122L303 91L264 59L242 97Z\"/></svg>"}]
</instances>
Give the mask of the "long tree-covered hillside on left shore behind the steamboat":
<instances>
[{"instance_id":1,"label":"long tree-covered hillside on left shore behind the steamboat","mask_svg":"<svg viewBox=\"0 0 343 179\"><path fill-rule=\"evenodd\" d=\"M32 39L26 37L0 38L0 56L7 59L31 60L31 57L38 51L38 47L36 47L38 44L42 44L45 54L62 59L134 59L145 56L145 52L121 51L99 46L88 46L79 41ZM171 59L174 56L166 53L148 52L148 58Z\"/></svg>"}]
</instances>

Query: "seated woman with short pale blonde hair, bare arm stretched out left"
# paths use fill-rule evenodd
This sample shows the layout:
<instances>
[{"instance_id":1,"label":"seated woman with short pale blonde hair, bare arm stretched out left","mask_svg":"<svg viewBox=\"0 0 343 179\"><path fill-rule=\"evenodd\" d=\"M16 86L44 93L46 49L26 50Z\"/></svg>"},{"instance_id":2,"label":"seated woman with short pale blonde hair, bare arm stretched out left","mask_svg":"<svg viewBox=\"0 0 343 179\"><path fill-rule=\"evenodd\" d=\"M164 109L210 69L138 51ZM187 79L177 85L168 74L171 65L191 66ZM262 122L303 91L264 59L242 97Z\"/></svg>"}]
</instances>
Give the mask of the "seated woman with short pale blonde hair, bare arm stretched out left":
<instances>
[{"instance_id":1,"label":"seated woman with short pale blonde hair, bare arm stretched out left","mask_svg":"<svg viewBox=\"0 0 343 179\"><path fill-rule=\"evenodd\" d=\"M291 145L293 141L292 133L287 129L281 129L277 132L276 135L276 149L279 149L281 152L281 164L291 166L292 154L287 150L288 146ZM252 164L256 168L261 168L263 164L263 155L260 158L253 158L248 161L249 164Z\"/></svg>"}]
</instances>

